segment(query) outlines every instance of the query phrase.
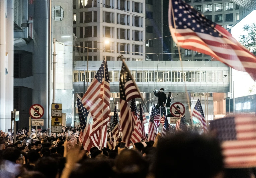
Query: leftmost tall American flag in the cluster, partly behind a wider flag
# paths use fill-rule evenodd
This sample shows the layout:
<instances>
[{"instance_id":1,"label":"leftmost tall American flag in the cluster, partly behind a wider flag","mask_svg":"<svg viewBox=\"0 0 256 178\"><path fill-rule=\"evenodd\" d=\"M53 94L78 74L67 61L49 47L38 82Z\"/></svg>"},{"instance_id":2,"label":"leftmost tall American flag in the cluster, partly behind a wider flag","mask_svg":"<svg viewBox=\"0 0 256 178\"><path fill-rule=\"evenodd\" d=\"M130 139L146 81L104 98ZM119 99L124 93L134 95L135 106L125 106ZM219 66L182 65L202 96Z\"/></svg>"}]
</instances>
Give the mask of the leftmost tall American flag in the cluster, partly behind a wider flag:
<instances>
[{"instance_id":1,"label":"leftmost tall American flag in the cluster, partly behind a wider flag","mask_svg":"<svg viewBox=\"0 0 256 178\"><path fill-rule=\"evenodd\" d=\"M78 139L83 144L84 149L89 152L91 147L93 146L89 137L90 131L92 130L93 119L92 119L91 113L82 104L82 101L79 95L77 95L77 108L78 108L80 128L81 128Z\"/></svg>"}]
</instances>

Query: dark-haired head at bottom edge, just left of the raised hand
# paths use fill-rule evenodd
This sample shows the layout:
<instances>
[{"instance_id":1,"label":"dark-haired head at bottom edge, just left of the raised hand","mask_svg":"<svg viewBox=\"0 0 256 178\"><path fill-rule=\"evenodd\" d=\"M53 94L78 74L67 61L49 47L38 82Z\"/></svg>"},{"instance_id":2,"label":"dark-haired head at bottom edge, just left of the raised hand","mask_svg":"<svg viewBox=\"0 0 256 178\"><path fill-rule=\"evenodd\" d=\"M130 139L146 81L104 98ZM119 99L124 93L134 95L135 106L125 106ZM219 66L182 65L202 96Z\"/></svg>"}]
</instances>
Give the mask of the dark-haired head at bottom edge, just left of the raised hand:
<instances>
[{"instance_id":1,"label":"dark-haired head at bottom edge, just left of the raised hand","mask_svg":"<svg viewBox=\"0 0 256 178\"><path fill-rule=\"evenodd\" d=\"M56 178L58 169L58 162L51 157L42 157L35 165L35 171L41 172L47 178Z\"/></svg>"}]
</instances>

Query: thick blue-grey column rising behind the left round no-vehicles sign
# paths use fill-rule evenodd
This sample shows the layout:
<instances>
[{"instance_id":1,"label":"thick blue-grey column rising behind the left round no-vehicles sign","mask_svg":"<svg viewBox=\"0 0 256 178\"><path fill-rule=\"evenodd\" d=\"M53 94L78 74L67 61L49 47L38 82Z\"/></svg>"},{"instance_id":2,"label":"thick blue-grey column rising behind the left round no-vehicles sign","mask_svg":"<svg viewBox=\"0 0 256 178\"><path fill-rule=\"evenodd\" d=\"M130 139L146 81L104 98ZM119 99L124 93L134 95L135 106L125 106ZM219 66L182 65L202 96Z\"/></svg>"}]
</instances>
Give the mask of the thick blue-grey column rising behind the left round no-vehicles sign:
<instances>
[{"instance_id":1,"label":"thick blue-grey column rising behind the left round no-vehicles sign","mask_svg":"<svg viewBox=\"0 0 256 178\"><path fill-rule=\"evenodd\" d=\"M45 109L44 127L48 128L48 8L47 0L34 0L33 41L34 53L32 74L34 89L33 104L40 104Z\"/></svg>"}]
</instances>

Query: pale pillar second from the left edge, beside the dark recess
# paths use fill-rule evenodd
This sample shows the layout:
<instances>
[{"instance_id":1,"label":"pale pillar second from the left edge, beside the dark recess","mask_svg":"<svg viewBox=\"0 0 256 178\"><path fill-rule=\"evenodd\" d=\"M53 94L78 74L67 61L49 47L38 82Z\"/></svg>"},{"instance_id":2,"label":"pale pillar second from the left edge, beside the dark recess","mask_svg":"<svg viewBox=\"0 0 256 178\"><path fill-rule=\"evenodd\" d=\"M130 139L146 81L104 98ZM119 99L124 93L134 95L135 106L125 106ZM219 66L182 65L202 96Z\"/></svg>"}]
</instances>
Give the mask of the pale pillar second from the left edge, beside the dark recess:
<instances>
[{"instance_id":1,"label":"pale pillar second from the left edge, beside the dark recess","mask_svg":"<svg viewBox=\"0 0 256 178\"><path fill-rule=\"evenodd\" d=\"M11 128L11 111L13 111L13 0L7 1L7 18L6 18L6 52L8 53L8 60L6 61L6 68L8 74L5 85L5 128Z\"/></svg>"}]
</instances>

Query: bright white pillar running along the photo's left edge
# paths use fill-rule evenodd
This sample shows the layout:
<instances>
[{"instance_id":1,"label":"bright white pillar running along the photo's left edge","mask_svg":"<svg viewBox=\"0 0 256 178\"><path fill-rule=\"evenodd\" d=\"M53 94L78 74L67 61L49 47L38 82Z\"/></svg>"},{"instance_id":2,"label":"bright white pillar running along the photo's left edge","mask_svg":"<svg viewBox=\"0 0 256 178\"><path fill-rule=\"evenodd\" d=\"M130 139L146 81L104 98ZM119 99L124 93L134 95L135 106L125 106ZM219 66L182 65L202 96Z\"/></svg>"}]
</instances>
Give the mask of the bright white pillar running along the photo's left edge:
<instances>
[{"instance_id":1,"label":"bright white pillar running along the photo's left edge","mask_svg":"<svg viewBox=\"0 0 256 178\"><path fill-rule=\"evenodd\" d=\"M5 0L0 1L0 129L5 128Z\"/></svg>"}]
</instances>

